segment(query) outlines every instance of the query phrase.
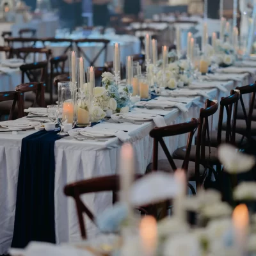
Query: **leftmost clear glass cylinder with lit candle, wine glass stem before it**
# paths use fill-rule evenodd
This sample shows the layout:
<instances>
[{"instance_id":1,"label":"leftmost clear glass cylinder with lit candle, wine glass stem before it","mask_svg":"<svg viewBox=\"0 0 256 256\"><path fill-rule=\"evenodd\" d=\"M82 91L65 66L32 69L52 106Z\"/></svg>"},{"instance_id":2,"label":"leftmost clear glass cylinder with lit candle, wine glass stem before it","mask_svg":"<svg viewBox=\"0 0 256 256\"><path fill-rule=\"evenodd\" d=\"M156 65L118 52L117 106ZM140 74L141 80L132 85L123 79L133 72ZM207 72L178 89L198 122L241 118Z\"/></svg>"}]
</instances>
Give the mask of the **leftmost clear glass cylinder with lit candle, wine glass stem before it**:
<instances>
[{"instance_id":1,"label":"leftmost clear glass cylinder with lit candle, wine glass stem before it","mask_svg":"<svg viewBox=\"0 0 256 256\"><path fill-rule=\"evenodd\" d=\"M59 82L58 110L56 111L56 117L57 122L61 127L61 131L58 133L58 135L67 135L67 132L63 132L63 127L65 124L74 125L74 114L74 86L72 86L72 82Z\"/></svg>"}]
</instances>

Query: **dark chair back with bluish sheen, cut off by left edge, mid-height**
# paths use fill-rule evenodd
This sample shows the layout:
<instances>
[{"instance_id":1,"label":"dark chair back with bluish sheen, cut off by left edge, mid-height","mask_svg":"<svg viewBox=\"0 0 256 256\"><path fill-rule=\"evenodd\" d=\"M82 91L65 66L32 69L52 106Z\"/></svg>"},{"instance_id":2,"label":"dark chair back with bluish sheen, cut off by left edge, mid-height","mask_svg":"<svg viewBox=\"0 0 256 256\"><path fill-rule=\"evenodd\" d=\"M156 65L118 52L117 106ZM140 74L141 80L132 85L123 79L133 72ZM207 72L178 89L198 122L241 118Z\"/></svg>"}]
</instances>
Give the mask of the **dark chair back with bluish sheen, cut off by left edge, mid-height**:
<instances>
[{"instance_id":1,"label":"dark chair back with bluish sheen, cut off by left edge, mid-height","mask_svg":"<svg viewBox=\"0 0 256 256\"><path fill-rule=\"evenodd\" d=\"M8 120L13 120L13 116L14 116L14 111L15 111L15 106L17 104L18 107L18 116L17 118L22 117L23 115L23 108L22 108L22 100L20 98L20 92L0 92L0 102L5 102L5 101L9 101L9 100L13 100L12 103L12 107L10 109L10 114L9 114L9 118ZM1 113L1 110L0 110Z\"/></svg>"}]
</instances>

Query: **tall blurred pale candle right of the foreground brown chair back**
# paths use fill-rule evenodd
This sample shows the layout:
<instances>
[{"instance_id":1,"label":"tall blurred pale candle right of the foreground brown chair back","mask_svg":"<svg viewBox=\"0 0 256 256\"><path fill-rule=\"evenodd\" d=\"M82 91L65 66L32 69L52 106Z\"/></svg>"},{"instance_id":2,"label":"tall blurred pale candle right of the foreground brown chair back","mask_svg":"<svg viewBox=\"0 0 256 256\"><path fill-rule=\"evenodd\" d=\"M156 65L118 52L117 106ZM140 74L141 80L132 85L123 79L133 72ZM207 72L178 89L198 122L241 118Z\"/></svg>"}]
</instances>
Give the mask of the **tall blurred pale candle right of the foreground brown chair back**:
<instances>
[{"instance_id":1,"label":"tall blurred pale candle right of the foreground brown chair back","mask_svg":"<svg viewBox=\"0 0 256 256\"><path fill-rule=\"evenodd\" d=\"M120 202L127 205L129 217L133 216L130 188L134 180L134 156L133 148L129 143L125 143L121 148L120 156Z\"/></svg>"}]
</instances>

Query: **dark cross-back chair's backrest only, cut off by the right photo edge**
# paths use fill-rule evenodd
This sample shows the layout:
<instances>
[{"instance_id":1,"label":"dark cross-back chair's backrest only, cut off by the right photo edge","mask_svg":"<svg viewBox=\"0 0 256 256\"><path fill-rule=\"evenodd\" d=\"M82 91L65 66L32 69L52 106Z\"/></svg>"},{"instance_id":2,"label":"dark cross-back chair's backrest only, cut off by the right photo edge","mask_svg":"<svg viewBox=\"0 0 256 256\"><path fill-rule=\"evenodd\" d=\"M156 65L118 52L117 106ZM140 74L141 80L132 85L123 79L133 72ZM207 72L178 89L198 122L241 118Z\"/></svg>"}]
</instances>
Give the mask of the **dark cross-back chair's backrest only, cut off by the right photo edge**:
<instances>
[{"instance_id":1,"label":"dark cross-back chair's backrest only, cut off by the right photo edge","mask_svg":"<svg viewBox=\"0 0 256 256\"><path fill-rule=\"evenodd\" d=\"M252 114L253 114L253 108L254 108L254 102L255 102L255 95L256 95L256 82L253 84L249 84L242 87L237 87L237 90L240 91L240 101L243 108L244 113L244 120L246 122L246 137L250 140L251 138L251 125L252 125ZM249 106L249 112L246 113L246 108L244 106L244 100L243 95L251 93L251 99L250 99L250 106Z\"/></svg>"}]
</instances>

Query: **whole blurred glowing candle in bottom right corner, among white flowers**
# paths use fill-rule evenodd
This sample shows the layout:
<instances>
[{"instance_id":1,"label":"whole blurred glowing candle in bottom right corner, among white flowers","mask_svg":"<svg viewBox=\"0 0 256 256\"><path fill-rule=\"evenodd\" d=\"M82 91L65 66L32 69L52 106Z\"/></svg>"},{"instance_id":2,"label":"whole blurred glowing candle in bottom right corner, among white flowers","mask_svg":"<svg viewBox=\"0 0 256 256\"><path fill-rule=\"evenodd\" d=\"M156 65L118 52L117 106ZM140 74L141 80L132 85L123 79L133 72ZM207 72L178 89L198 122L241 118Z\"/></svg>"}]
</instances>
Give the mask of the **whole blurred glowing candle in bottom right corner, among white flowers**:
<instances>
[{"instance_id":1,"label":"whole blurred glowing candle in bottom right corner, among white flowers","mask_svg":"<svg viewBox=\"0 0 256 256\"><path fill-rule=\"evenodd\" d=\"M248 236L249 212L245 204L237 205L232 214L237 255L246 255L246 239Z\"/></svg>"}]
</instances>

